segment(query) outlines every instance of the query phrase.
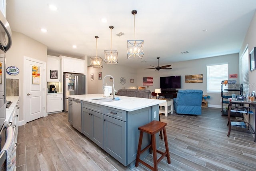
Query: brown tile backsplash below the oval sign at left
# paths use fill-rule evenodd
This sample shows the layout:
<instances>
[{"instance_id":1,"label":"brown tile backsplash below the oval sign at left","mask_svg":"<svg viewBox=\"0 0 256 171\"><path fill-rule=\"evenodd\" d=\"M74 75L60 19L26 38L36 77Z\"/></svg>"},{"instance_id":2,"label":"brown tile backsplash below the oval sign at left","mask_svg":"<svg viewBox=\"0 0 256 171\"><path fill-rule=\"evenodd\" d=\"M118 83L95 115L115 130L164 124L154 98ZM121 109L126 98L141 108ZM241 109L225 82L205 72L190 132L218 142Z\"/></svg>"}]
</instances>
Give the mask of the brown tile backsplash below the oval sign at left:
<instances>
[{"instance_id":1,"label":"brown tile backsplash below the oval sign at left","mask_svg":"<svg viewBox=\"0 0 256 171\"><path fill-rule=\"evenodd\" d=\"M19 96L20 80L6 78L6 96Z\"/></svg>"}]
</instances>

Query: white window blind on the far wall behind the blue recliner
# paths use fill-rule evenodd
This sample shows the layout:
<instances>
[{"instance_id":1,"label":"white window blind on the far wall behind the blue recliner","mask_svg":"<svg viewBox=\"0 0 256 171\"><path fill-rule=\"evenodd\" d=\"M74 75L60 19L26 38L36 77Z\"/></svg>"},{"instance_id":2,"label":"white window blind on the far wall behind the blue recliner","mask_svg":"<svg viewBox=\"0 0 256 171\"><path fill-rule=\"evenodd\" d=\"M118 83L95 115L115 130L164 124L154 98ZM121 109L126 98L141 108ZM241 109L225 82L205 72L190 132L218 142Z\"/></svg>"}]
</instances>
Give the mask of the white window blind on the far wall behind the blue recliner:
<instances>
[{"instance_id":1,"label":"white window blind on the far wall behind the blue recliner","mask_svg":"<svg viewBox=\"0 0 256 171\"><path fill-rule=\"evenodd\" d=\"M228 80L228 64L207 66L207 91L220 92L222 80Z\"/></svg>"}]
</instances>

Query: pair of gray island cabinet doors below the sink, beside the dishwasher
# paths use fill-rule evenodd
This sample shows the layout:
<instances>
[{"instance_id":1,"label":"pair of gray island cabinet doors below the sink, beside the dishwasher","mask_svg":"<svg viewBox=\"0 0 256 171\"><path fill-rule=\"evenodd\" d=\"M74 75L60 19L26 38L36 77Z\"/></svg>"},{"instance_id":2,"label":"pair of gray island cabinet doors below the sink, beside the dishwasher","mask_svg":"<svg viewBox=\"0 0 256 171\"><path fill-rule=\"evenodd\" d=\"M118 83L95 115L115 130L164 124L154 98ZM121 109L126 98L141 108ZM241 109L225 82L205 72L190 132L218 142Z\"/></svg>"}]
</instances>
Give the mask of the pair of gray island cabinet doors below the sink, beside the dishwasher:
<instances>
[{"instance_id":1,"label":"pair of gray island cabinet doors below the sink, beside the dishwasher","mask_svg":"<svg viewBox=\"0 0 256 171\"><path fill-rule=\"evenodd\" d=\"M102 113L82 107L82 133L104 148L104 117Z\"/></svg>"}]
</instances>

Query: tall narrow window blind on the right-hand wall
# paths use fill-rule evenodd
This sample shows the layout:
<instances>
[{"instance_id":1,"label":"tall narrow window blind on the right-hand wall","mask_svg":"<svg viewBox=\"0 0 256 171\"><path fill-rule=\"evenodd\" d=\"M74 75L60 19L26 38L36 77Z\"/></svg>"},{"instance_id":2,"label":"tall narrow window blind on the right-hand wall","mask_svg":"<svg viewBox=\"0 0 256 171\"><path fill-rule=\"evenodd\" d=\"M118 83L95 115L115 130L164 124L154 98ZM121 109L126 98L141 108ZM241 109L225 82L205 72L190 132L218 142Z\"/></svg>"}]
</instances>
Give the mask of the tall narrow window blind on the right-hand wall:
<instances>
[{"instance_id":1,"label":"tall narrow window blind on the right-hand wall","mask_svg":"<svg viewBox=\"0 0 256 171\"><path fill-rule=\"evenodd\" d=\"M243 94L249 93L249 50L248 47L240 58L241 83L243 84Z\"/></svg>"}]
</instances>

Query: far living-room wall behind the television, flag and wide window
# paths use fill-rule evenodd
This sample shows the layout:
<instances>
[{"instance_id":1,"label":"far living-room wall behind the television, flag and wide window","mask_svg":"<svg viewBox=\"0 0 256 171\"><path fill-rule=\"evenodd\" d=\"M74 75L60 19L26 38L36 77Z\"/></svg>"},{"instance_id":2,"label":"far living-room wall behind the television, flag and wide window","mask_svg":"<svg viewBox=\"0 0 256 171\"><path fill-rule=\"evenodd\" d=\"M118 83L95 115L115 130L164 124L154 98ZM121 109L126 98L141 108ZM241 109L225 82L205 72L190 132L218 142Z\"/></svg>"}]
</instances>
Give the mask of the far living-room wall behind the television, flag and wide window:
<instances>
[{"instance_id":1,"label":"far living-room wall behind the television, flag and wide window","mask_svg":"<svg viewBox=\"0 0 256 171\"><path fill-rule=\"evenodd\" d=\"M146 89L154 91L155 88L160 87L160 77L164 76L181 76L181 88L180 89L201 89L204 95L210 95L210 99L207 99L208 106L210 107L221 107L221 95L220 93L207 93L207 65L213 64L224 64L228 63L228 74L239 74L239 61L238 54L230 54L223 56L215 56L211 58L203 58L199 60L190 60L184 62L172 63L172 70L137 70L137 80L138 84L142 85L143 77L153 77L154 85L149 86ZM203 74L203 83L185 83L186 75ZM239 78L231 79L237 80L239 83ZM220 84L221 86L221 84ZM179 89L177 89L179 90Z\"/></svg>"}]
</instances>

